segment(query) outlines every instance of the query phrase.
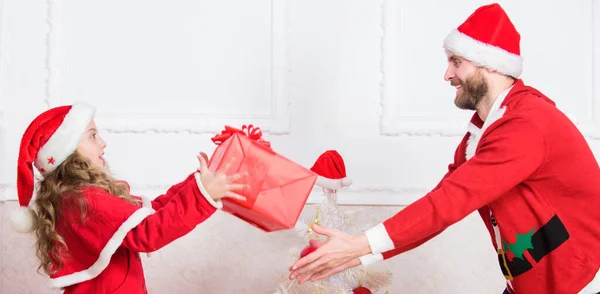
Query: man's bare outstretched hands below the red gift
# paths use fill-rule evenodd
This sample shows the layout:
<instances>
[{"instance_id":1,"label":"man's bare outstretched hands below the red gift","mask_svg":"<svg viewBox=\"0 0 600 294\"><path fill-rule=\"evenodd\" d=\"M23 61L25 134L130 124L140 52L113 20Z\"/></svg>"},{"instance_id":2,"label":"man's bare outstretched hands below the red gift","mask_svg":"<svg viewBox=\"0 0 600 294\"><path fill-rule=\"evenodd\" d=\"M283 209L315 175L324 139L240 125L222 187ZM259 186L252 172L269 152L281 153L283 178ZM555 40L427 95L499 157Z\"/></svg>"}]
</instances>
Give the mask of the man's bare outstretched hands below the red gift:
<instances>
[{"instance_id":1,"label":"man's bare outstretched hands below the red gift","mask_svg":"<svg viewBox=\"0 0 600 294\"><path fill-rule=\"evenodd\" d=\"M313 225L317 234L328 237L326 242L311 241L317 250L304 256L290 268L290 279L298 283L321 280L343 270L360 265L358 257L371 252L367 237L349 235L336 229Z\"/></svg>"}]
</instances>

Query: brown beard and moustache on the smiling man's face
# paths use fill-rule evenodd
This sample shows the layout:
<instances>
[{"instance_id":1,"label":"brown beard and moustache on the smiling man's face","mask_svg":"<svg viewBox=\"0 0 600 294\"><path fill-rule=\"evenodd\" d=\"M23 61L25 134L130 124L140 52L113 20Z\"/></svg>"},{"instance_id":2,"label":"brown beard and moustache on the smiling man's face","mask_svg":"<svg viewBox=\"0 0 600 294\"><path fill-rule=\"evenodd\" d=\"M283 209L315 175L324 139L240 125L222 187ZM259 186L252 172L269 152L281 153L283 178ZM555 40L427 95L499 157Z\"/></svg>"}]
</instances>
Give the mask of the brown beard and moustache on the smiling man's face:
<instances>
[{"instance_id":1,"label":"brown beard and moustache on the smiling man's face","mask_svg":"<svg viewBox=\"0 0 600 294\"><path fill-rule=\"evenodd\" d=\"M479 71L465 81L454 78L450 84L452 86L460 85L462 89L462 93L457 93L454 98L454 104L460 109L477 110L477 105L488 93L488 85Z\"/></svg>"}]
</instances>

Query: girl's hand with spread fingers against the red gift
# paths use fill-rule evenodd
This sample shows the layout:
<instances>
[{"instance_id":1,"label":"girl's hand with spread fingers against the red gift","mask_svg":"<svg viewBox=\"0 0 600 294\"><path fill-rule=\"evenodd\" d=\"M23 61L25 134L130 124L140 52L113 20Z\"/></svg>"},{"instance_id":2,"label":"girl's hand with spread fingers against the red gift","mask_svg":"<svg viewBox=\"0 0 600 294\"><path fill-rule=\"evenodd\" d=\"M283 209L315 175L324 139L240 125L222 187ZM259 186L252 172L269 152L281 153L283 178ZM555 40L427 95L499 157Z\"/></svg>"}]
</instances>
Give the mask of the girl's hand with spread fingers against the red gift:
<instances>
[{"instance_id":1,"label":"girl's hand with spread fingers against the red gift","mask_svg":"<svg viewBox=\"0 0 600 294\"><path fill-rule=\"evenodd\" d=\"M200 161L200 179L206 192L214 201L219 201L223 198L235 198L238 200L246 200L246 197L237 194L233 191L243 190L248 185L235 184L234 182L245 176L245 173L237 173L231 176L226 175L223 171L211 172L208 169L207 156L204 153L198 155ZM231 163L227 163L224 170L227 170L231 166Z\"/></svg>"}]
</instances>

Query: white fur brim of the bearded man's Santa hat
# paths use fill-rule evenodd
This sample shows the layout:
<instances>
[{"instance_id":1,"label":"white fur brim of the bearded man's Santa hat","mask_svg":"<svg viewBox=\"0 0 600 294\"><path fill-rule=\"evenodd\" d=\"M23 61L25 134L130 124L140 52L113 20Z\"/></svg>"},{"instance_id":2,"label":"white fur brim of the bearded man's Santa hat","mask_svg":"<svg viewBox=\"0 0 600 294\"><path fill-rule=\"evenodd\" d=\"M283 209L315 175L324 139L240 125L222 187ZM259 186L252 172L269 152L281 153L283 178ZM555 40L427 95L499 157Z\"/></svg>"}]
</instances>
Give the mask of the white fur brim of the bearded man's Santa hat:
<instances>
[{"instance_id":1,"label":"white fur brim of the bearded man's Santa hat","mask_svg":"<svg viewBox=\"0 0 600 294\"><path fill-rule=\"evenodd\" d=\"M444 39L444 49L473 64L518 78L523 73L523 58L500 47L475 40L454 29Z\"/></svg>"}]
</instances>

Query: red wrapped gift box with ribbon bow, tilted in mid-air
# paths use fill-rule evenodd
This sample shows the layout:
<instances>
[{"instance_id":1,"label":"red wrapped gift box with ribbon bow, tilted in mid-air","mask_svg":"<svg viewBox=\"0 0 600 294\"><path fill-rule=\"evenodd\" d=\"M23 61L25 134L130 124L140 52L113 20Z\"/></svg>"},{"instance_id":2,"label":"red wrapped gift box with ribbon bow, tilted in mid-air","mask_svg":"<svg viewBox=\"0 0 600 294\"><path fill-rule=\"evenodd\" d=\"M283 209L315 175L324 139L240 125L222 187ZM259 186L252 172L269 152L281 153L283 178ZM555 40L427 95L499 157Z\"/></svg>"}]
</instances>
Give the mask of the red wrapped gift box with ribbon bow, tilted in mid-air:
<instances>
[{"instance_id":1,"label":"red wrapped gift box with ribbon bow, tilted in mid-air","mask_svg":"<svg viewBox=\"0 0 600 294\"><path fill-rule=\"evenodd\" d=\"M295 226L317 180L317 174L277 153L252 125L242 129L226 126L212 138L219 145L210 161L211 171L228 175L246 172L236 183L249 188L236 193L246 200L223 198L226 211L266 231ZM224 168L230 164L227 170Z\"/></svg>"}]
</instances>

